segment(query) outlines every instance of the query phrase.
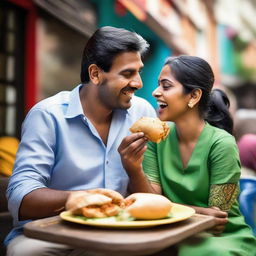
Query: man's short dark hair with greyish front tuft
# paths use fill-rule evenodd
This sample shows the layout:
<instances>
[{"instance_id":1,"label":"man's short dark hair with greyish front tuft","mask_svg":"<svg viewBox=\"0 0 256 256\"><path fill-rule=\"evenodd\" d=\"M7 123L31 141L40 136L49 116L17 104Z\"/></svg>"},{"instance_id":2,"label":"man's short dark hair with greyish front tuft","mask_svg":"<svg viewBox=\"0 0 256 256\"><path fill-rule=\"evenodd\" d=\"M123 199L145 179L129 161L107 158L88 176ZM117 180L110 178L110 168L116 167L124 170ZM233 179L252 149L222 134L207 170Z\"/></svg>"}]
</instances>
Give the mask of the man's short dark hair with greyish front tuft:
<instances>
[{"instance_id":1,"label":"man's short dark hair with greyish front tuft","mask_svg":"<svg viewBox=\"0 0 256 256\"><path fill-rule=\"evenodd\" d=\"M81 82L89 82L88 67L96 64L105 72L112 66L113 59L124 52L147 52L149 44L135 32L122 28L101 27L85 45L81 64Z\"/></svg>"}]
</instances>

